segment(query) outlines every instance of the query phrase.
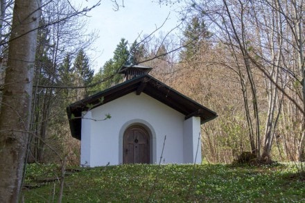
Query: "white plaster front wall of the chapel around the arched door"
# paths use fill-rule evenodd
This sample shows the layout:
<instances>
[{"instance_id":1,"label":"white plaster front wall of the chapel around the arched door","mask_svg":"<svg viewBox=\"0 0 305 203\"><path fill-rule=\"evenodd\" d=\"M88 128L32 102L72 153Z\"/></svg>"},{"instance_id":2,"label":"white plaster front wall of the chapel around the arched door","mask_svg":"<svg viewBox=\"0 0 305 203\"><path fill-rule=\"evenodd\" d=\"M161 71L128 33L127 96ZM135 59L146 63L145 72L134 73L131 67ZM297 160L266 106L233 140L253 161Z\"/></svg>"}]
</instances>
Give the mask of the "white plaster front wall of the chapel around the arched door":
<instances>
[{"instance_id":1,"label":"white plaster front wall of the chapel around the arched door","mask_svg":"<svg viewBox=\"0 0 305 203\"><path fill-rule=\"evenodd\" d=\"M146 125L146 127L153 128L150 131L155 136L154 142L156 144L153 152L151 152L153 153L153 159L150 159L151 164L159 163L165 135L166 142L162 163L184 163L184 115L171 107L146 94L142 93L137 96L133 92L96 107L90 112L92 113L92 119L96 120L105 118L105 114L110 114L112 117L105 121L91 120L91 122L87 122L82 120L82 133L85 133L85 129L88 128L91 131L89 144L88 141L85 141L87 134L85 136L82 134L81 144L82 153L90 151L89 166L105 166L108 163L110 165L122 164L123 154L121 148L123 148L123 141L120 139L123 137L122 132L130 126L132 121L137 121L137 123L143 123L144 125L149 123L149 126ZM198 127L200 128L200 123ZM85 155L88 156L87 154Z\"/></svg>"}]
</instances>

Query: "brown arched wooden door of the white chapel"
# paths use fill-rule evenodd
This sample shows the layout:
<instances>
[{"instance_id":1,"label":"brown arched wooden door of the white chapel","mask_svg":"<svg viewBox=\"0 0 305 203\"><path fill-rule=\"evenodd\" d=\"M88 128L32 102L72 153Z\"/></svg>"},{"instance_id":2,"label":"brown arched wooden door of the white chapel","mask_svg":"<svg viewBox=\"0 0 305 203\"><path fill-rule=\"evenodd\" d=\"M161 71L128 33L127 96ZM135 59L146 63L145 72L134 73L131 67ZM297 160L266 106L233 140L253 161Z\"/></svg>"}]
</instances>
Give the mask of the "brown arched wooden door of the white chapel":
<instances>
[{"instance_id":1,"label":"brown arched wooden door of the white chapel","mask_svg":"<svg viewBox=\"0 0 305 203\"><path fill-rule=\"evenodd\" d=\"M149 141L149 134L143 127L128 127L123 137L123 163L149 164Z\"/></svg>"}]
</instances>

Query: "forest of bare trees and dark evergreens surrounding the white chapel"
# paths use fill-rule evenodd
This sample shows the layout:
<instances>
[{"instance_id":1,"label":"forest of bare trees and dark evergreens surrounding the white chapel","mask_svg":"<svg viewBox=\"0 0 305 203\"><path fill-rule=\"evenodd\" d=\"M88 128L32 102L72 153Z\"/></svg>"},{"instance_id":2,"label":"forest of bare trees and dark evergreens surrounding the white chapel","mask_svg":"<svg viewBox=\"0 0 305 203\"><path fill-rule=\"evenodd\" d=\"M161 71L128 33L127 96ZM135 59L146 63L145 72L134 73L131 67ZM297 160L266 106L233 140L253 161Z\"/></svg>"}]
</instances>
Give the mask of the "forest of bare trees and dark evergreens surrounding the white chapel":
<instances>
[{"instance_id":1,"label":"forest of bare trees and dark evergreens surrounding the white chapel","mask_svg":"<svg viewBox=\"0 0 305 203\"><path fill-rule=\"evenodd\" d=\"M113 3L120 12L128 1ZM121 82L125 64L152 67L152 76L217 112L201 126L202 162L305 161L305 2L156 3L181 4L180 35L156 29L128 42L122 33L94 71L88 53L98 36L85 32L86 15L103 3L1 0L3 200L17 200L26 164L79 164L66 107Z\"/></svg>"}]
</instances>

